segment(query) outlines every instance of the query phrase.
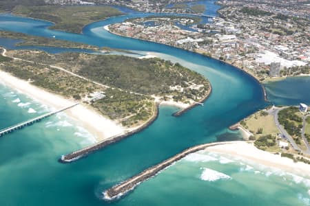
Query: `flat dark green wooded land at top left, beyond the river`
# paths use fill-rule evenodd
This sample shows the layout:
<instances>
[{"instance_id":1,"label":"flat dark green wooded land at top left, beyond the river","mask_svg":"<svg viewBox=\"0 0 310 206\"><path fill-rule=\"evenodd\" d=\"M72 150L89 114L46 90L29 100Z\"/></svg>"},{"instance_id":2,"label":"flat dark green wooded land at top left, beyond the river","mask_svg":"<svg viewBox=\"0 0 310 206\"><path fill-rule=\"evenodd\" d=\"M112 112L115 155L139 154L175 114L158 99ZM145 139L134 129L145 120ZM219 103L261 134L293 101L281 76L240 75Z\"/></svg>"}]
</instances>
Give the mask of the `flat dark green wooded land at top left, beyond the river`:
<instances>
[{"instance_id":1,"label":"flat dark green wooded land at top left, beyond the river","mask_svg":"<svg viewBox=\"0 0 310 206\"><path fill-rule=\"evenodd\" d=\"M23 6L14 8L13 13L55 23L51 28L79 33L94 21L117 16L122 13L109 6Z\"/></svg>"}]
</instances>

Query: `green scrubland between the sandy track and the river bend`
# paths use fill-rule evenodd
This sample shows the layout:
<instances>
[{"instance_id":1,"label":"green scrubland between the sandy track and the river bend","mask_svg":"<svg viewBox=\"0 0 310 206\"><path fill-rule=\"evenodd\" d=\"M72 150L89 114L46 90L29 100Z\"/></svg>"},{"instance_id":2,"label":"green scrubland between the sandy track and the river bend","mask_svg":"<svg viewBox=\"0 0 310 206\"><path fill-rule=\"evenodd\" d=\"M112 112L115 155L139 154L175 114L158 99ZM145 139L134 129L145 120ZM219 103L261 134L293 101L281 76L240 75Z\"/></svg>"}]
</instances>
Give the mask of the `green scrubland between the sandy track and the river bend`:
<instances>
[{"instance_id":1,"label":"green scrubland between the sandy track and the river bend","mask_svg":"<svg viewBox=\"0 0 310 206\"><path fill-rule=\"evenodd\" d=\"M13 51L14 52L14 51ZM159 58L79 53L46 54L14 52L18 58L65 67L90 80L144 95L172 95L174 100L200 100L209 91L209 82L195 71ZM171 89L179 86L183 89Z\"/></svg>"}]
</instances>

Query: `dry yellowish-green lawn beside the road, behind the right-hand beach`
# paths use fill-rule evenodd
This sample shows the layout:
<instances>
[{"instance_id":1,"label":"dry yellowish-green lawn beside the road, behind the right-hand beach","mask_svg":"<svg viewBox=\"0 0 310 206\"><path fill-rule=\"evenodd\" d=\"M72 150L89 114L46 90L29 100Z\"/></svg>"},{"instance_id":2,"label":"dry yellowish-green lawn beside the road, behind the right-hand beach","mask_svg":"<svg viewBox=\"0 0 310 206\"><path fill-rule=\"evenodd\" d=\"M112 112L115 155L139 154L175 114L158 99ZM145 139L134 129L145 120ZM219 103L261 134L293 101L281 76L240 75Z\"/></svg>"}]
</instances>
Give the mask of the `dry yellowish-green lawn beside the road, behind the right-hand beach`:
<instances>
[{"instance_id":1,"label":"dry yellowish-green lawn beside the road, behind the right-hand beach","mask_svg":"<svg viewBox=\"0 0 310 206\"><path fill-rule=\"evenodd\" d=\"M251 133L256 133L258 128L262 128L261 135L273 135L276 136L279 133L278 128L276 127L276 123L274 122L273 116L267 115L263 116L260 115L260 112L251 115L245 120L247 124L248 130Z\"/></svg>"}]
</instances>

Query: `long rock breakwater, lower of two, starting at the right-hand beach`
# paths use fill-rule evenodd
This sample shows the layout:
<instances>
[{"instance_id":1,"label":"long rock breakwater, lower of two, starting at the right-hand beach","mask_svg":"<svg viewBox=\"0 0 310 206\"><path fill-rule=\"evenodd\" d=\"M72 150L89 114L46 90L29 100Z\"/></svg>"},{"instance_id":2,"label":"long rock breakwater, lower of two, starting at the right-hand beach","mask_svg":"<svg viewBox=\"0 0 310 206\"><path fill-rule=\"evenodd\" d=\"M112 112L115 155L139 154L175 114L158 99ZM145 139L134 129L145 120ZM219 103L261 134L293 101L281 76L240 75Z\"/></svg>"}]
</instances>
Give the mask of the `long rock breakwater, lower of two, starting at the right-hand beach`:
<instances>
[{"instance_id":1,"label":"long rock breakwater, lower of two, starting at the right-hand beach","mask_svg":"<svg viewBox=\"0 0 310 206\"><path fill-rule=\"evenodd\" d=\"M215 143L209 143L209 144L201 144L198 146L194 146L192 148L188 148L187 150L184 150L183 152L180 152L178 155L175 155L174 157L171 157L162 163L158 163L157 165L152 166L151 168L147 168L143 172L137 174L136 176L132 176L130 179L127 179L126 181L123 181L123 183L120 183L118 185L114 185L110 189L103 192L104 199L106 201L114 201L118 198L121 198L121 196L127 194L128 192L134 190L134 188L142 183L143 181L146 181L147 179L156 176L158 172L161 172L162 170L165 170L169 165L172 165L176 161L179 161L180 159L183 159L185 156L198 152L199 150L205 150L205 148L208 148L210 146L218 146L223 144L233 144L238 141L223 141L223 142L215 142Z\"/></svg>"}]
</instances>

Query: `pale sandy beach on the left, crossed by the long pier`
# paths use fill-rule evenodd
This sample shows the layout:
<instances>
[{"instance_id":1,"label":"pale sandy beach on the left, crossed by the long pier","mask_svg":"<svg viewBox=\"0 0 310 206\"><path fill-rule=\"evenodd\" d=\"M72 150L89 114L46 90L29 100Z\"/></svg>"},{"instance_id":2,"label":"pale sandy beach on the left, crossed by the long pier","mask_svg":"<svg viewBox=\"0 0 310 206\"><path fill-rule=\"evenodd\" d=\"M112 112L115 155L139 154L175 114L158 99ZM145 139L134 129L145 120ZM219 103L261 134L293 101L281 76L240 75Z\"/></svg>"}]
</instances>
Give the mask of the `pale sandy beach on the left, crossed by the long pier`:
<instances>
[{"instance_id":1,"label":"pale sandy beach on the left, crossed by the long pier","mask_svg":"<svg viewBox=\"0 0 310 206\"><path fill-rule=\"evenodd\" d=\"M51 106L54 109L64 108L65 106L70 106L76 103L73 100L65 99L60 95L35 87L29 82L11 76L10 73L4 71L0 71L0 81L8 87L17 89L17 91L30 96L30 98L37 100L41 104ZM107 117L103 117L99 113L96 113L94 109L83 104L74 106L68 111L65 111L65 113L75 119L76 122L79 123L79 126L82 126L94 135L97 141L125 132L122 126L116 124Z\"/></svg>"}]
</instances>

